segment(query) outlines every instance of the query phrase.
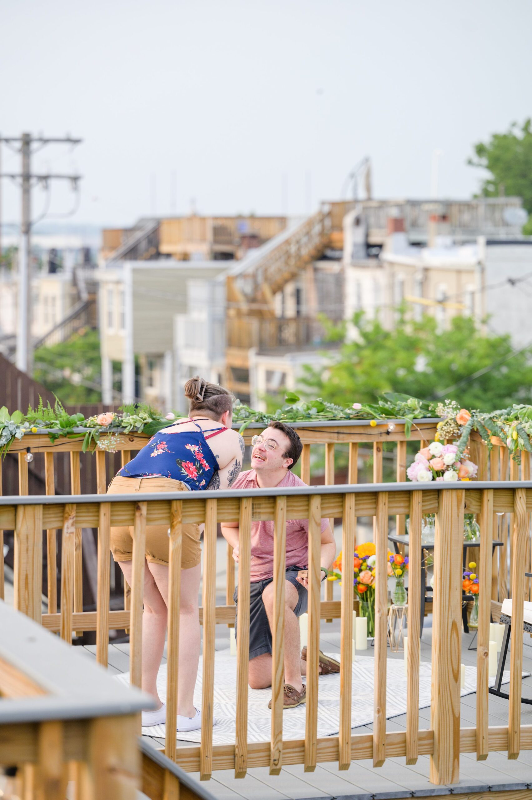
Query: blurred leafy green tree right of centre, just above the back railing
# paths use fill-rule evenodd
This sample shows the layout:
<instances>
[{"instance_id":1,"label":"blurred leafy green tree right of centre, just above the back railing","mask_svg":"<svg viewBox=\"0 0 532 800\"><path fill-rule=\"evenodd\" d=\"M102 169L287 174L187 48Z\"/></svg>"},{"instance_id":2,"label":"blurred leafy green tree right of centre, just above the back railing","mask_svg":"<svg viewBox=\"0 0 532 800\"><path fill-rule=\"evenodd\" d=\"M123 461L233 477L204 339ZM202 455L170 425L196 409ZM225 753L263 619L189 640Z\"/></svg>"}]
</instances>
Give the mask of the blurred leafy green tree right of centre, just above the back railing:
<instances>
[{"instance_id":1,"label":"blurred leafy green tree right of centre, just above the back railing","mask_svg":"<svg viewBox=\"0 0 532 800\"><path fill-rule=\"evenodd\" d=\"M306 367L307 394L340 406L374 402L386 391L422 400L445 393L480 410L532 401L532 348L516 353L509 336L484 335L472 318L454 317L442 332L428 315L414 322L401 313L394 330L362 312L353 322L354 341L346 341L342 328L331 328L343 343L325 369Z\"/></svg>"}]
</instances>

